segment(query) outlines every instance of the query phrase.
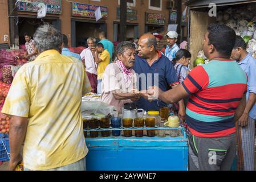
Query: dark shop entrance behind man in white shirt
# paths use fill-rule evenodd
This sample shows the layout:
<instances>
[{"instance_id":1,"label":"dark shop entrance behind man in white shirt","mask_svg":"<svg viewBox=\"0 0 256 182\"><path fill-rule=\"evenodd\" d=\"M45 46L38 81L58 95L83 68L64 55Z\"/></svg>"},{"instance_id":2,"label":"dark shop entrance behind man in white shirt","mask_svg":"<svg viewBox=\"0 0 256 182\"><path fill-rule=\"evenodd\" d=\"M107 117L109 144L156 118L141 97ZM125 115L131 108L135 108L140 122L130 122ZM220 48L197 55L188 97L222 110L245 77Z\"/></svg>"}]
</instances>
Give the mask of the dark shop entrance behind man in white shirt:
<instances>
[{"instance_id":1,"label":"dark shop entrance behind man in white shirt","mask_svg":"<svg viewBox=\"0 0 256 182\"><path fill-rule=\"evenodd\" d=\"M72 47L88 47L87 39L96 38L99 42L99 32L107 32L107 23L71 20Z\"/></svg>"}]
</instances>

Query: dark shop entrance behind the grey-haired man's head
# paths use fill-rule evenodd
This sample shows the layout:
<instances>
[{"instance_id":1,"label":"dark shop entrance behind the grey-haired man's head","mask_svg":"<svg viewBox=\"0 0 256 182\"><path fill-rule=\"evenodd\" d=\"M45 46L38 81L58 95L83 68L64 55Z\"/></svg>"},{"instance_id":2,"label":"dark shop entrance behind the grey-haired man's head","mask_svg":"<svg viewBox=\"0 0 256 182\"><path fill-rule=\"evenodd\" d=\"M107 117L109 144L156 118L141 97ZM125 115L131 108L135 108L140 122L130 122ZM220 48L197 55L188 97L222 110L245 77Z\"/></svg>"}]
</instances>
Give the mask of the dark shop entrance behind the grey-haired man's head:
<instances>
[{"instance_id":1,"label":"dark shop entrance behind the grey-haired man's head","mask_svg":"<svg viewBox=\"0 0 256 182\"><path fill-rule=\"evenodd\" d=\"M44 19L37 19L37 18L31 18L31 17L20 17L19 16L19 45L24 45L26 43L24 34L27 32L31 36L34 35L36 28L43 25L44 23L50 23L52 26L60 30L60 20L59 19L53 19L50 17L44 18Z\"/></svg>"}]
</instances>

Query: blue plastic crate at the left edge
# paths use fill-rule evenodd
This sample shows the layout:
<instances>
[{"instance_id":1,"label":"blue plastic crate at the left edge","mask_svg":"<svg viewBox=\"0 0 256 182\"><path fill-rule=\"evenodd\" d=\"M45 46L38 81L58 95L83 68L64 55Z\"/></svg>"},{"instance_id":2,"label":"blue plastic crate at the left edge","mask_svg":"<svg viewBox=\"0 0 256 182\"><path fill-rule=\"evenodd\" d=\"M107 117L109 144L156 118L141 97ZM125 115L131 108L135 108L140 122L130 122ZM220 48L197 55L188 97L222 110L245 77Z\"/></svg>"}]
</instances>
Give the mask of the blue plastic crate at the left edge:
<instances>
[{"instance_id":1,"label":"blue plastic crate at the left edge","mask_svg":"<svg viewBox=\"0 0 256 182\"><path fill-rule=\"evenodd\" d=\"M9 138L6 134L0 134L0 161L10 160Z\"/></svg>"}]
</instances>

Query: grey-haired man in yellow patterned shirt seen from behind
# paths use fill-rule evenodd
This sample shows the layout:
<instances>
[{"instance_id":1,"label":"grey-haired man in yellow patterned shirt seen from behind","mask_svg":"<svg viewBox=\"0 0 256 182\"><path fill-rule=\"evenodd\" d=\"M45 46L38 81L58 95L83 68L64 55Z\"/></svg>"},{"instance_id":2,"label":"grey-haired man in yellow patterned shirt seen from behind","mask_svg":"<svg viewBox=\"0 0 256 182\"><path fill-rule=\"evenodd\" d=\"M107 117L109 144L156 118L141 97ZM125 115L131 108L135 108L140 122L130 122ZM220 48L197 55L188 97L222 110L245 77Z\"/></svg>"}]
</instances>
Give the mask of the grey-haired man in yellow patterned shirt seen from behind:
<instances>
[{"instance_id":1,"label":"grey-haired man in yellow patterned shirt seen from behind","mask_svg":"<svg viewBox=\"0 0 256 182\"><path fill-rule=\"evenodd\" d=\"M62 34L48 24L34 41L39 56L19 69L2 109L12 116L9 169L23 160L27 171L84 170L80 106L91 85L83 63L60 54Z\"/></svg>"}]
</instances>

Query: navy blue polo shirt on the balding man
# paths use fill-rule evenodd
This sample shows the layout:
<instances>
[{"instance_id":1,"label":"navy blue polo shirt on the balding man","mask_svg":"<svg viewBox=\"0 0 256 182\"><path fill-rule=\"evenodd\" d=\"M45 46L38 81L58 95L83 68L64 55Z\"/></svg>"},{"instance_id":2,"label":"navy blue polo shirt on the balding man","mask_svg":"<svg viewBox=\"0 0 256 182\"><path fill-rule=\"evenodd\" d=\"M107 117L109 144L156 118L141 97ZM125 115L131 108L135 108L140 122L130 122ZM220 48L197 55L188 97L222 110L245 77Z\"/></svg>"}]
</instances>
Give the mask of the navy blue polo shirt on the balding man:
<instances>
[{"instance_id":1,"label":"navy blue polo shirt on the balding man","mask_svg":"<svg viewBox=\"0 0 256 182\"><path fill-rule=\"evenodd\" d=\"M159 59L156 60L151 67L147 60L142 57L136 56L134 71L137 75L137 88L139 90L146 90L149 86L158 86L161 90L166 91L170 86L178 84L176 71L170 60L159 52ZM167 106L163 101L155 100L149 102L145 98L140 98L136 102L138 109L144 110L160 110L160 107Z\"/></svg>"}]
</instances>

